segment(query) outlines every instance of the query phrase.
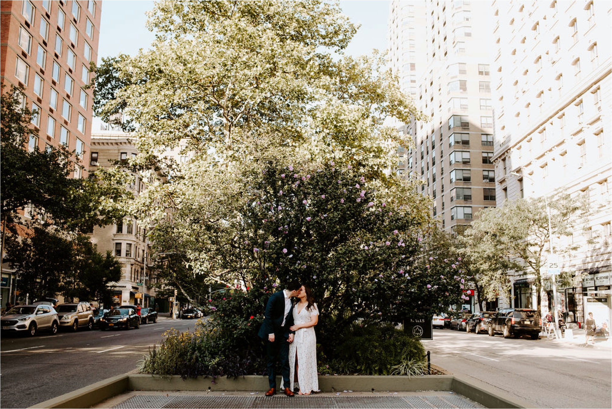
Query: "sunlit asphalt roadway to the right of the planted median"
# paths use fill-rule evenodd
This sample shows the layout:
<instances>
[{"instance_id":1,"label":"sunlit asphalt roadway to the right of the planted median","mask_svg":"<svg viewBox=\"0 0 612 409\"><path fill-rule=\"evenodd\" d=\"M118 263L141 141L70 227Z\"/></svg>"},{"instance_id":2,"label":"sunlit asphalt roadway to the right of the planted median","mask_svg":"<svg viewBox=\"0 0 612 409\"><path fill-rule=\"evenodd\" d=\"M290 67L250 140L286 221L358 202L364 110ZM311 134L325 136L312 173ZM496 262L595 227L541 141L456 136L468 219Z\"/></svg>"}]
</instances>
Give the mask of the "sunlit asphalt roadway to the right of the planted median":
<instances>
[{"instance_id":1,"label":"sunlit asphalt roadway to the right of the planted median","mask_svg":"<svg viewBox=\"0 0 612 409\"><path fill-rule=\"evenodd\" d=\"M431 363L476 378L536 408L612 408L611 350L556 340L504 339L434 329Z\"/></svg>"}]
</instances>

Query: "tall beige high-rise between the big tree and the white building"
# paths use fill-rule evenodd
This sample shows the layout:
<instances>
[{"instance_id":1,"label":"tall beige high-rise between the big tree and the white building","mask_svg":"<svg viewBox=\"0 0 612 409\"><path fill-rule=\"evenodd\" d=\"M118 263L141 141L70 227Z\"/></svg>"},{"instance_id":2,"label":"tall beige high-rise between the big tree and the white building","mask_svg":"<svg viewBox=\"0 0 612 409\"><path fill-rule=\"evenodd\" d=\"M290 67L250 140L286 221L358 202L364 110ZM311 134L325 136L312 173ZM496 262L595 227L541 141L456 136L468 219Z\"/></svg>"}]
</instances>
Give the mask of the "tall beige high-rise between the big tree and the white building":
<instances>
[{"instance_id":1,"label":"tall beige high-rise between the big tree and the white building","mask_svg":"<svg viewBox=\"0 0 612 409\"><path fill-rule=\"evenodd\" d=\"M465 228L496 204L489 2L390 4L389 60L403 90L429 116L397 124L414 146L398 151L398 173L422 181L442 228Z\"/></svg>"}]
</instances>

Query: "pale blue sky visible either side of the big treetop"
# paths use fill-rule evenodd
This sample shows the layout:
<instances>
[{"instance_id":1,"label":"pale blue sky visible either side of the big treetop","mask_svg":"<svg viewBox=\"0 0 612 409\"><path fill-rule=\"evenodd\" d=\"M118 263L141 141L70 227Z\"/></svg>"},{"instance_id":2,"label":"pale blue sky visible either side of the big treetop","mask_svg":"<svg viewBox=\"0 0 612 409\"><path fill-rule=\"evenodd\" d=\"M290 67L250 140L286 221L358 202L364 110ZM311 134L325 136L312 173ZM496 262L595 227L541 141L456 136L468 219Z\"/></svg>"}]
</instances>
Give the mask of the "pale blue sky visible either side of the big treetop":
<instances>
[{"instance_id":1,"label":"pale blue sky visible either side of the big treetop","mask_svg":"<svg viewBox=\"0 0 612 409\"><path fill-rule=\"evenodd\" d=\"M340 7L353 23L361 24L347 54L359 56L387 47L389 1L341 0ZM140 48L149 48L155 36L144 26L144 12L152 8L153 1L148 0L103 1L98 59L120 53L135 55Z\"/></svg>"}]
</instances>

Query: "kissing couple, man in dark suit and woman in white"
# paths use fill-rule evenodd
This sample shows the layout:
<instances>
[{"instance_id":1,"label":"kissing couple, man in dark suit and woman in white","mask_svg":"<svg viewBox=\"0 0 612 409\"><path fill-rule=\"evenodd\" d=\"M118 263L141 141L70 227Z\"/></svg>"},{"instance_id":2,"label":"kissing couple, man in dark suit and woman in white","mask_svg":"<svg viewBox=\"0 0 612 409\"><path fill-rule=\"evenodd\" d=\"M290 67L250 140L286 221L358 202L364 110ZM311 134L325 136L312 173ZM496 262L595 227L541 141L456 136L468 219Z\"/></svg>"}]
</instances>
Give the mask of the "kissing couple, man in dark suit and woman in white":
<instances>
[{"instance_id":1,"label":"kissing couple, man in dark suit and woman in white","mask_svg":"<svg viewBox=\"0 0 612 409\"><path fill-rule=\"evenodd\" d=\"M319 310L310 287L290 282L284 290L270 296L258 333L266 344L270 383L266 396L274 396L277 391L277 362L280 363L286 396L294 396L297 385L300 395L319 391L315 334L318 320Z\"/></svg>"}]
</instances>

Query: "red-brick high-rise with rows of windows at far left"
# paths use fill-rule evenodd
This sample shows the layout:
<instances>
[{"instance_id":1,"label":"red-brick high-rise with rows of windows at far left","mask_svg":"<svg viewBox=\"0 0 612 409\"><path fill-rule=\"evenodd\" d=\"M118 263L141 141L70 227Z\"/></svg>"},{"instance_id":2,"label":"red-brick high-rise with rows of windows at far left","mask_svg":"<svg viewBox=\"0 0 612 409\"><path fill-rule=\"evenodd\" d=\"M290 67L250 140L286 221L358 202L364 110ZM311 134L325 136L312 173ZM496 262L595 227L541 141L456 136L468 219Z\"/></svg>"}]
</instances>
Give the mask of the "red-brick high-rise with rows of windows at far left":
<instances>
[{"instance_id":1,"label":"red-brick high-rise with rows of windows at far left","mask_svg":"<svg viewBox=\"0 0 612 409\"><path fill-rule=\"evenodd\" d=\"M2 84L23 89L35 111L29 148L65 144L83 155L91 140L91 61L97 60L100 1L2 1ZM76 167L83 176L88 163Z\"/></svg>"}]
</instances>

